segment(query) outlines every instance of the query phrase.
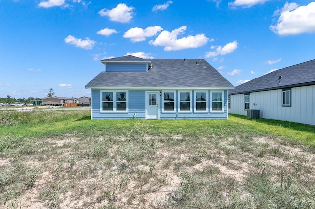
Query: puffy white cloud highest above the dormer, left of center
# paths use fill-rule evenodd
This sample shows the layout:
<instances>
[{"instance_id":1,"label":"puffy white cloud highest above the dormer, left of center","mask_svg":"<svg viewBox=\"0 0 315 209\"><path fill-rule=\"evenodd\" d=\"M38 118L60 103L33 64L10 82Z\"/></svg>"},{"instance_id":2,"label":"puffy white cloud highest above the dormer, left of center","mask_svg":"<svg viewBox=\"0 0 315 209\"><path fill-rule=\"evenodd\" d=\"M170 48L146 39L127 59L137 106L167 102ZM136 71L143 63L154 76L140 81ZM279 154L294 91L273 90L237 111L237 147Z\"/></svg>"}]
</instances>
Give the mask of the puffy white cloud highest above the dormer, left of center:
<instances>
[{"instance_id":1,"label":"puffy white cloud highest above the dormer, left of center","mask_svg":"<svg viewBox=\"0 0 315 209\"><path fill-rule=\"evenodd\" d=\"M128 7L124 3L120 3L116 8L111 10L102 9L98 12L101 16L108 16L111 21L119 23L129 23L133 16L134 7Z\"/></svg>"}]
</instances>

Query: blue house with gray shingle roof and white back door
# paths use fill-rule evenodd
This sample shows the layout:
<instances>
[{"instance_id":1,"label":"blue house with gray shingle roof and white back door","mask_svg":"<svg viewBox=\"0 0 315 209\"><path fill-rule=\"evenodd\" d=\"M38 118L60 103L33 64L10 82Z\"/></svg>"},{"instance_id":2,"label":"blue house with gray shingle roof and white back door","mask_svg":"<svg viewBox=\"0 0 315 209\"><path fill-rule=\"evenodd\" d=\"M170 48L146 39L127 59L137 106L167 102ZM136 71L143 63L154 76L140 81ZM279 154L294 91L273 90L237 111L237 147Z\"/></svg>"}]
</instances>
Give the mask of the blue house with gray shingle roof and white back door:
<instances>
[{"instance_id":1,"label":"blue house with gray shingle roof and white back door","mask_svg":"<svg viewBox=\"0 0 315 209\"><path fill-rule=\"evenodd\" d=\"M234 86L204 59L101 60L91 89L91 119L228 119Z\"/></svg>"}]
</instances>

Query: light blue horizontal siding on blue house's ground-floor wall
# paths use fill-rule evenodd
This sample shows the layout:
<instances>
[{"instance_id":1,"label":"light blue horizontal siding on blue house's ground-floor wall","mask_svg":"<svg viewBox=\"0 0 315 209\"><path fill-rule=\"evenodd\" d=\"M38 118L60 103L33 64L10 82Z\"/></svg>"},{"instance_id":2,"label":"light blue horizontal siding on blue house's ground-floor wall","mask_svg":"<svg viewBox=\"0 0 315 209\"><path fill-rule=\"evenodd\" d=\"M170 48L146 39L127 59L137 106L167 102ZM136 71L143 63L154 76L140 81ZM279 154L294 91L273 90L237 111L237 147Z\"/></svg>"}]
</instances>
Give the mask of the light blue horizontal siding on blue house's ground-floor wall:
<instances>
[{"instance_id":1,"label":"light blue horizontal siding on blue house's ground-floor wall","mask_svg":"<svg viewBox=\"0 0 315 209\"><path fill-rule=\"evenodd\" d=\"M127 89L126 89L127 90ZM127 118L140 118L145 119L145 90L129 90L129 112L127 113L103 113L100 112L100 90L92 90L92 119L127 119ZM228 111L227 111L227 90L224 90L224 112L213 113L210 112L210 94L211 90L208 90L208 112L205 113L195 113L194 112L194 91L192 91L191 100L192 100L192 112L191 113L180 113L178 112L178 102L176 105L176 112L178 113L163 113L161 111L162 107L162 97L159 100L159 117L160 119L183 119L183 118L190 118L190 119L227 119L228 118ZM179 93L176 91L176 101L179 101Z\"/></svg>"}]
</instances>

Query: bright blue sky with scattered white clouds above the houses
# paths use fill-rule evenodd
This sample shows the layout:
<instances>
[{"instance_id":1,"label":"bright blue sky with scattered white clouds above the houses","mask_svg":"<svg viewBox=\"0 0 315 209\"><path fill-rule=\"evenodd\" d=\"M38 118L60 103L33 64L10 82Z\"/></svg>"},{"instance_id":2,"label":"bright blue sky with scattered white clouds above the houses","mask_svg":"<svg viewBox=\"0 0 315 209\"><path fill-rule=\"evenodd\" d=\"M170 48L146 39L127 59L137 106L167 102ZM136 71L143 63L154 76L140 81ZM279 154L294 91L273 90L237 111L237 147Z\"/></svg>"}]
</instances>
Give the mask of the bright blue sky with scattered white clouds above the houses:
<instances>
[{"instance_id":1,"label":"bright blue sky with scattered white clouds above the houses","mask_svg":"<svg viewBox=\"0 0 315 209\"><path fill-rule=\"evenodd\" d=\"M0 0L0 97L90 96L129 54L204 58L237 86L315 58L315 2Z\"/></svg>"}]
</instances>

